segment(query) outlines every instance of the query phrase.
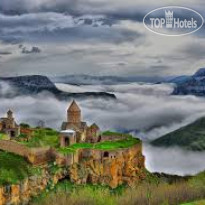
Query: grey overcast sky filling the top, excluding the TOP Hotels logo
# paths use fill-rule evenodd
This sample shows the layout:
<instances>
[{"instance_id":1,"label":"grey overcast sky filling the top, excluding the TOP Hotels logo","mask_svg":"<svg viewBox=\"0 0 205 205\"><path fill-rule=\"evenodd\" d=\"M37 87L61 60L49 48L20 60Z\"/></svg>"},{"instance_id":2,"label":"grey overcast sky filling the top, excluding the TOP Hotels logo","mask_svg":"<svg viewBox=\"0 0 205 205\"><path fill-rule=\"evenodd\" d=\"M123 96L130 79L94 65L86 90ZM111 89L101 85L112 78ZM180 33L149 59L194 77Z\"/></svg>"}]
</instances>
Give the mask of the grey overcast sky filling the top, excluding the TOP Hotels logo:
<instances>
[{"instance_id":1,"label":"grey overcast sky filling the top, excluding the TOP Hotels logo","mask_svg":"<svg viewBox=\"0 0 205 205\"><path fill-rule=\"evenodd\" d=\"M0 75L181 75L205 65L204 27L154 34L144 15L178 5L205 16L204 0L1 0Z\"/></svg>"}]
</instances>

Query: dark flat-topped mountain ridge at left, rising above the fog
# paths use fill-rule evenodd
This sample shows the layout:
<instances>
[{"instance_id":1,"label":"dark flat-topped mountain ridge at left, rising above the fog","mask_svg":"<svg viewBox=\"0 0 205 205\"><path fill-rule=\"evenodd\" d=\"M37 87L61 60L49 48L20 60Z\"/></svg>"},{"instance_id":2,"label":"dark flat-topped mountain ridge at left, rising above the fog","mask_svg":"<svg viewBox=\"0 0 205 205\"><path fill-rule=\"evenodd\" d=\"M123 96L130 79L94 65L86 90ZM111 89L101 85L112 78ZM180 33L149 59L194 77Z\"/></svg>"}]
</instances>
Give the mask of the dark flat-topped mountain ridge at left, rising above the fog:
<instances>
[{"instance_id":1,"label":"dark flat-topped mountain ridge at left, rising above the fog","mask_svg":"<svg viewBox=\"0 0 205 205\"><path fill-rule=\"evenodd\" d=\"M4 92L4 97L14 97L18 95L36 95L41 92L52 93L58 99L68 98L86 98L102 97L115 98L114 94L105 92L85 92L85 93L67 93L59 90L55 84L46 76L28 75L18 77L0 78L0 89L3 89L2 83L6 83L13 88L13 92ZM0 92L2 93L2 92Z\"/></svg>"}]
</instances>

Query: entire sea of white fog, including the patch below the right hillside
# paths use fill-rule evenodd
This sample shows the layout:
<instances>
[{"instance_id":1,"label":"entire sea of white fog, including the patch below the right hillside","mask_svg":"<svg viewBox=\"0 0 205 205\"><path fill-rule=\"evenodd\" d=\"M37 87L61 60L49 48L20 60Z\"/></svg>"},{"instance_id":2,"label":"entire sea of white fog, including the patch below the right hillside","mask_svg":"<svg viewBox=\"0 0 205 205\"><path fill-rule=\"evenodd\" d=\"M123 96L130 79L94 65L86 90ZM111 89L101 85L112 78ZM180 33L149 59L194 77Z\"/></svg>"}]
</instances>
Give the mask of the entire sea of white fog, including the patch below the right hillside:
<instances>
[{"instance_id":1,"label":"entire sea of white fog, including the patch below the right hillside","mask_svg":"<svg viewBox=\"0 0 205 205\"><path fill-rule=\"evenodd\" d=\"M103 130L129 131L143 139L148 170L184 175L205 169L205 153L183 151L180 148L156 148L147 144L149 140L205 116L204 98L172 96L173 85L170 84L56 86L67 92L114 93L116 100L78 100L83 118L88 123L96 122ZM12 92L8 85L0 87L1 96L5 92ZM35 97L1 97L0 104L0 116L12 109L18 122L36 126L39 120L43 120L47 127L60 129L62 121L66 120L66 109L70 102L59 101L51 94L42 93Z\"/></svg>"}]
</instances>

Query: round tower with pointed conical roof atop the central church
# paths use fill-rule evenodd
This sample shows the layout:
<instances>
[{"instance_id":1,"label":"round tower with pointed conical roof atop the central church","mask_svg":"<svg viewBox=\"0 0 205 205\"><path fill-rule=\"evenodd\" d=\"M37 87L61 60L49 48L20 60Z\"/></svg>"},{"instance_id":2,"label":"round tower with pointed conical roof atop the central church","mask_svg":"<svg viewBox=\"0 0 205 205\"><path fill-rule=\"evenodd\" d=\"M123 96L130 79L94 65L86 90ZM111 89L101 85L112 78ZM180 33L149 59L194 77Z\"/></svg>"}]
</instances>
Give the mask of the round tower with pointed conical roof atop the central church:
<instances>
[{"instance_id":1,"label":"round tower with pointed conical roof atop the central church","mask_svg":"<svg viewBox=\"0 0 205 205\"><path fill-rule=\"evenodd\" d=\"M75 100L73 100L67 110L67 121L73 124L78 124L81 122L81 110Z\"/></svg>"}]
</instances>

